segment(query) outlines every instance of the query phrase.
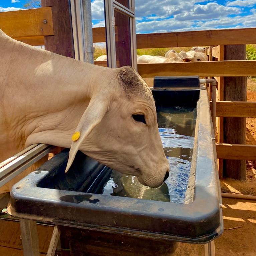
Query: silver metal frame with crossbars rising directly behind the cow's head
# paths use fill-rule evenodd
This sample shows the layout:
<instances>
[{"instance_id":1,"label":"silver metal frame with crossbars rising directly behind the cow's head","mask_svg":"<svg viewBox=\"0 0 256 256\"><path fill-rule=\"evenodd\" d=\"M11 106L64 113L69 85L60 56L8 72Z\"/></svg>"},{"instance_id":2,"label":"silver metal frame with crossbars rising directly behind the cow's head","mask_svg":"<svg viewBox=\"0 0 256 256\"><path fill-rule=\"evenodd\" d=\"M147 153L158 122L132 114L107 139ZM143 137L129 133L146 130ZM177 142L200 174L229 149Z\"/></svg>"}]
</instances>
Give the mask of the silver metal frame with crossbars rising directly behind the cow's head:
<instances>
[{"instance_id":1,"label":"silver metal frame with crossbars rising directly behind the cow's head","mask_svg":"<svg viewBox=\"0 0 256 256\"><path fill-rule=\"evenodd\" d=\"M135 21L135 0L129 0L130 8L123 6L115 0L104 0L106 10L106 41L108 66L116 68L115 54L115 19L114 9L130 18L130 38L132 67L137 71L137 44L136 44L136 21Z\"/></svg>"}]
</instances>

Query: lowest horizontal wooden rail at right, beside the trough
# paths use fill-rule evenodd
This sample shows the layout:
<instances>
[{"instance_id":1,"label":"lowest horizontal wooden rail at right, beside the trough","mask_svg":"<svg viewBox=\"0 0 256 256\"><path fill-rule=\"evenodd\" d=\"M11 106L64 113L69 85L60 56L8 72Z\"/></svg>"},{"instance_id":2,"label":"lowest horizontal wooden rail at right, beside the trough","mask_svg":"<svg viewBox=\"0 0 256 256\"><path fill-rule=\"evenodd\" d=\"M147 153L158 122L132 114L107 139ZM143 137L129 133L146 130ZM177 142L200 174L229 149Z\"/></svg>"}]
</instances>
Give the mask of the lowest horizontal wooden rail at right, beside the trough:
<instances>
[{"instance_id":1,"label":"lowest horizontal wooden rail at right, beside the trough","mask_svg":"<svg viewBox=\"0 0 256 256\"><path fill-rule=\"evenodd\" d=\"M256 145L216 143L217 158L256 160Z\"/></svg>"}]
</instances>

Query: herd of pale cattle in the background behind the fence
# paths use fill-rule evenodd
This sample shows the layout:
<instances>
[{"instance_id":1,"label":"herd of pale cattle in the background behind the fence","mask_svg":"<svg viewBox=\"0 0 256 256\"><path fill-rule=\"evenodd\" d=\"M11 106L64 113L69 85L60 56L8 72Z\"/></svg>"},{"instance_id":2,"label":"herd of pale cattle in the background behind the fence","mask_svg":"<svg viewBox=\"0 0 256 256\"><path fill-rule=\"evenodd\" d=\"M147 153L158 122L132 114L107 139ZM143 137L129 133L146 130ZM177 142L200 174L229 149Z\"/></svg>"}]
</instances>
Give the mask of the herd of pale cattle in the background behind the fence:
<instances>
[{"instance_id":1,"label":"herd of pale cattle in the background behind the fence","mask_svg":"<svg viewBox=\"0 0 256 256\"><path fill-rule=\"evenodd\" d=\"M137 55L138 64L148 63L177 63L177 62L195 62L195 61L208 61L208 56L205 54L205 47L192 47L190 51L169 50L165 56L151 56L151 55ZM107 55L101 55L94 61L106 61Z\"/></svg>"}]
</instances>

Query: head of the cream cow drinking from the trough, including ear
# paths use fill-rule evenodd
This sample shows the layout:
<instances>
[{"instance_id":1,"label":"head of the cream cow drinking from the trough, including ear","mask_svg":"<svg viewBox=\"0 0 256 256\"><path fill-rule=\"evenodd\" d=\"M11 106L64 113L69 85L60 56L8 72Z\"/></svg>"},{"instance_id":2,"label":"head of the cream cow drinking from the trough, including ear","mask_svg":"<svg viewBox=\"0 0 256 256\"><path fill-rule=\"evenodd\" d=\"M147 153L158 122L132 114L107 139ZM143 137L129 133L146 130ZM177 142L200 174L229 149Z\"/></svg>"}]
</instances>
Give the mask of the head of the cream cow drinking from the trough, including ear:
<instances>
[{"instance_id":1,"label":"head of the cream cow drinking from the trough, including ear","mask_svg":"<svg viewBox=\"0 0 256 256\"><path fill-rule=\"evenodd\" d=\"M78 123L66 171L81 150L110 168L137 176L143 185L159 187L169 175L169 163L152 93L131 67L112 70L111 86L92 96Z\"/></svg>"}]
</instances>

